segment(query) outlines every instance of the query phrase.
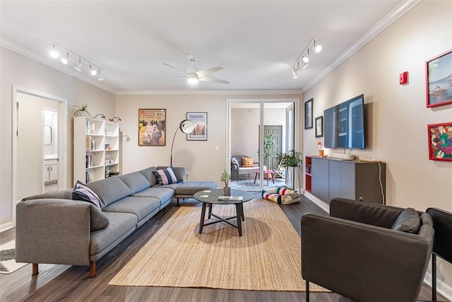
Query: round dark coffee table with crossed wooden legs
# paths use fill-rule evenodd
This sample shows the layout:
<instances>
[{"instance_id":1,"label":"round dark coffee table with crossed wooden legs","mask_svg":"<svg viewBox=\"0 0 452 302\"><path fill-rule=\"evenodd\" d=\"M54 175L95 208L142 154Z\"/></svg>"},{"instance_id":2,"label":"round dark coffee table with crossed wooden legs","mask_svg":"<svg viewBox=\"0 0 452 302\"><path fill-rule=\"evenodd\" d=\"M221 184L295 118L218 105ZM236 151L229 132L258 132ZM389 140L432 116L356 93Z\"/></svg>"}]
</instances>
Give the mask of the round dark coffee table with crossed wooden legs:
<instances>
[{"instance_id":1,"label":"round dark coffee table with crossed wooden legs","mask_svg":"<svg viewBox=\"0 0 452 302\"><path fill-rule=\"evenodd\" d=\"M230 199L220 199L220 197L224 196L223 189L213 189L213 190L202 190L196 192L194 197L198 202L203 203L203 207L201 210L201 221L199 222L199 233L203 233L203 227L209 226L213 223L225 222L230 226L234 226L234 228L239 229L239 236L242 236L242 221L245 220L244 212L243 212L243 203L248 202L253 199L253 195L249 192L243 190L231 189ZM234 204L236 209L236 216L230 217L220 217L212 213L213 204ZM214 216L215 221L210 221L208 223L204 223L206 217L206 206L209 205L208 219L211 216ZM230 222L231 219L237 218L237 225Z\"/></svg>"}]
</instances>

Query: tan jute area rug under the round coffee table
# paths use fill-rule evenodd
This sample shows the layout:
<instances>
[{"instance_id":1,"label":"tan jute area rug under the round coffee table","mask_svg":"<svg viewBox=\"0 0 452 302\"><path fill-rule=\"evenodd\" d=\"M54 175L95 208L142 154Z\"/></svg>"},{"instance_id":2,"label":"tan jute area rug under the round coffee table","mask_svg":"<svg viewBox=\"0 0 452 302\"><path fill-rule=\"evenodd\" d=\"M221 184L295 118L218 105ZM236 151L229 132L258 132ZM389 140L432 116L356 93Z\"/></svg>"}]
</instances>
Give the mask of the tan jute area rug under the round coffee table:
<instances>
[{"instance_id":1,"label":"tan jute area rug under the round coffee table","mask_svg":"<svg viewBox=\"0 0 452 302\"><path fill-rule=\"evenodd\" d=\"M213 213L235 216L235 207L215 204ZM242 237L226 223L199 234L201 207L180 207L109 284L305 291L301 240L278 204L253 199L244 216Z\"/></svg>"}]
</instances>

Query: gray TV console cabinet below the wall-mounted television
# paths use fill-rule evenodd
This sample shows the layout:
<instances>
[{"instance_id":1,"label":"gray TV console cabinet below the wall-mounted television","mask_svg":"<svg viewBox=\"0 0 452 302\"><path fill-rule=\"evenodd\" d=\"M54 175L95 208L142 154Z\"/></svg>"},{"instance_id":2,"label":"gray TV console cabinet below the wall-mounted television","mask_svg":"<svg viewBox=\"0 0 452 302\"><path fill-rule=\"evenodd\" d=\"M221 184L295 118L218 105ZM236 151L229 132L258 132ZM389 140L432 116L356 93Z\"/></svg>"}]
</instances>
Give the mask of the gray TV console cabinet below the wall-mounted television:
<instances>
[{"instance_id":1,"label":"gray TV console cabinet below the wall-mounted television","mask_svg":"<svg viewBox=\"0 0 452 302\"><path fill-rule=\"evenodd\" d=\"M312 157L311 193L327 204L343 197L384 204L386 163Z\"/></svg>"}]
</instances>

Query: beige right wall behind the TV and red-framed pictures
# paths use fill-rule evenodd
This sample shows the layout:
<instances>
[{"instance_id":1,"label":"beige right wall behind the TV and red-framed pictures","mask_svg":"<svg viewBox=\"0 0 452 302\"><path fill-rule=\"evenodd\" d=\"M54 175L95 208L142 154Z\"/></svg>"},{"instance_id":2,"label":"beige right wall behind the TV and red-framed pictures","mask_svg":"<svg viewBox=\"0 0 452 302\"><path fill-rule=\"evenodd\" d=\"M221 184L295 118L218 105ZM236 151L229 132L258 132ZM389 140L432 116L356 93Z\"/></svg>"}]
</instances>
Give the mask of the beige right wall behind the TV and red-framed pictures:
<instances>
[{"instance_id":1,"label":"beige right wall behind the TV and red-framed pictures","mask_svg":"<svg viewBox=\"0 0 452 302\"><path fill-rule=\"evenodd\" d=\"M429 161L427 150L427 124L452 122L452 105L426 108L424 66L452 49L451 16L452 1L422 1L304 95L314 98L318 117L364 93L369 147L352 154L387 163L386 202L397 207L452 211L452 162ZM406 86L398 83L403 71L409 72ZM314 129L304 131L304 154L318 153L316 141L323 138L316 139ZM450 290L452 265L440 267L439 279Z\"/></svg>"}]
</instances>

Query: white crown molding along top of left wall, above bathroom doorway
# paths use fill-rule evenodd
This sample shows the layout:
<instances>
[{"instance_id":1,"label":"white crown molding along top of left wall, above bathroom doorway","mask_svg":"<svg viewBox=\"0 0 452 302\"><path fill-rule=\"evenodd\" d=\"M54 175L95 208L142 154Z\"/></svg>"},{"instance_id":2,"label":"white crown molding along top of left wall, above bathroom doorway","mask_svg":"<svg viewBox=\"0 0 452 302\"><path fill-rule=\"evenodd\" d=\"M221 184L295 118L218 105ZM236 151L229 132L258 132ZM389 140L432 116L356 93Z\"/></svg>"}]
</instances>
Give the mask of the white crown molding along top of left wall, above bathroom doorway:
<instances>
[{"instance_id":1,"label":"white crown molding along top of left wall, above bathroom doorway","mask_svg":"<svg viewBox=\"0 0 452 302\"><path fill-rule=\"evenodd\" d=\"M31 52L30 50L26 49L25 47L21 47L19 45L16 45L15 43L8 41L4 39L3 37L0 37L0 46L5 47L8 50L11 50L13 52L16 52L18 54L23 55L24 57L28 57L28 59L32 59L33 61L40 62L41 64L47 65L53 69L57 69L58 71L61 71L64 74L68 74L69 76L73 76L76 79L79 79L81 81L84 81L85 83L89 83L93 86L96 86L102 90L108 91L109 93L115 93L112 89L108 88L107 86L101 85L97 79L85 77L80 74L80 72L67 68L61 68L58 64L52 64L52 61L47 61L43 59L42 57L38 56L34 52Z\"/></svg>"}]
</instances>

